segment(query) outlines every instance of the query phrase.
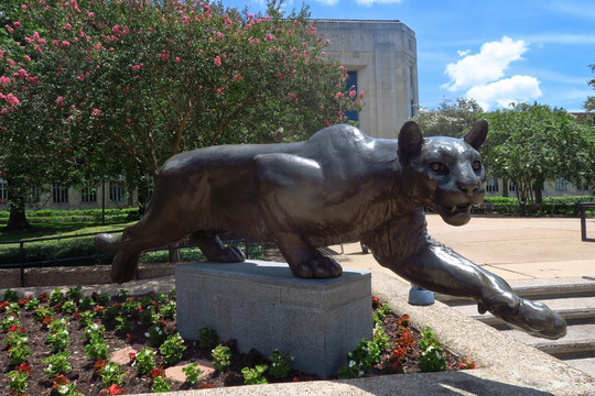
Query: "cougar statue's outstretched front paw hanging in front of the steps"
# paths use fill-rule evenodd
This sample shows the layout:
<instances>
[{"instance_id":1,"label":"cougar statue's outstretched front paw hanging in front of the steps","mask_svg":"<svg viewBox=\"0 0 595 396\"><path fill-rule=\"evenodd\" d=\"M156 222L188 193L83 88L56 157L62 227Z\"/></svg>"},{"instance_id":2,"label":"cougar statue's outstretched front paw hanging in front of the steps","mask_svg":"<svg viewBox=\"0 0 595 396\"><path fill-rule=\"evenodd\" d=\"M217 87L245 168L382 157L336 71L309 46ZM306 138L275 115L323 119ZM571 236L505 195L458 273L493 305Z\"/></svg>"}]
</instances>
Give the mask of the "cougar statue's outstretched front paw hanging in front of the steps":
<instances>
[{"instance_id":1,"label":"cougar statue's outstretched front paw hanging in front of the steps","mask_svg":"<svg viewBox=\"0 0 595 396\"><path fill-rule=\"evenodd\" d=\"M539 301L520 299L517 308L494 312L510 327L531 336L556 340L566 336L566 321L558 312Z\"/></svg>"}]
</instances>

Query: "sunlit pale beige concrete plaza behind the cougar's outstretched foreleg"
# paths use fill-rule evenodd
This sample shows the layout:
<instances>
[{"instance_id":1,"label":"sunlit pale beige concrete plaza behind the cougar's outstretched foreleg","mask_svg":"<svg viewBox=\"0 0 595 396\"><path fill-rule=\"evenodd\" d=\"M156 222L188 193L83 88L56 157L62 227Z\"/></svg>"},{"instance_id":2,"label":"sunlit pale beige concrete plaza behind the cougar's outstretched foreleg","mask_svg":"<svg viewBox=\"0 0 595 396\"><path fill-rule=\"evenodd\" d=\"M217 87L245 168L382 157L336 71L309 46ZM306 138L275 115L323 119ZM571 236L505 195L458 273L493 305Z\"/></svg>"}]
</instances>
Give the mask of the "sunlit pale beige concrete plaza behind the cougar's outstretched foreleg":
<instances>
[{"instance_id":1,"label":"sunlit pale beige concrete plaza behind the cougar's outstretched foreleg","mask_svg":"<svg viewBox=\"0 0 595 396\"><path fill-rule=\"evenodd\" d=\"M453 227L440 216L426 216L432 238L506 280L595 278L595 242L581 241L581 220L566 218L474 217ZM595 235L595 219L587 219L587 237ZM332 246L340 252L342 246ZM381 267L359 243L343 245L344 267L392 272Z\"/></svg>"}]
</instances>

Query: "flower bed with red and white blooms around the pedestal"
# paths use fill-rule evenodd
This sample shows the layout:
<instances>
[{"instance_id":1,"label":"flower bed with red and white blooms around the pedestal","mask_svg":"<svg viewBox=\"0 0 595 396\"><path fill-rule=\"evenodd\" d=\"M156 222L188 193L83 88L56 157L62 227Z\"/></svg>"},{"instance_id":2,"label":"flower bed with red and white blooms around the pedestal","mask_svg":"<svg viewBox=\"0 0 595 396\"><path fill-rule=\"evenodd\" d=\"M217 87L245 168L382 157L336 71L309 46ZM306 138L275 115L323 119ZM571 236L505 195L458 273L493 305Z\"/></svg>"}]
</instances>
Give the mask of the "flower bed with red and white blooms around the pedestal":
<instances>
[{"instance_id":1,"label":"flower bed with red and white blooms around the pedestal","mask_svg":"<svg viewBox=\"0 0 595 396\"><path fill-rule=\"evenodd\" d=\"M418 332L407 316L391 314L376 298L372 308L375 337L348 354L338 377L475 366L444 351L431 329ZM0 386L11 395L119 395L320 380L292 370L283 345L270 356L256 350L240 354L234 340L220 342L207 328L197 329L198 341L182 340L175 290L144 296L121 290L110 297L83 296L74 287L25 298L7 290L0 311ZM178 374L166 374L175 369Z\"/></svg>"}]
</instances>

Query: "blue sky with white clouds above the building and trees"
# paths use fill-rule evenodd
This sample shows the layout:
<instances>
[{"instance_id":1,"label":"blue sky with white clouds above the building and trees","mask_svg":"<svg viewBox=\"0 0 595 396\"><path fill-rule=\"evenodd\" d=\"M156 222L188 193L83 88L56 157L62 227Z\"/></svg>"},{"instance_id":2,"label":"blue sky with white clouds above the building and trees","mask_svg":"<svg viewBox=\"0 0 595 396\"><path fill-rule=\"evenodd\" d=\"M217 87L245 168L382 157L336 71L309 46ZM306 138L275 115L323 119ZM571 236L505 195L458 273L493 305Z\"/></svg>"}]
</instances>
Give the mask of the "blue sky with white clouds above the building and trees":
<instances>
[{"instance_id":1,"label":"blue sky with white clouds above the building and trees","mask_svg":"<svg viewBox=\"0 0 595 396\"><path fill-rule=\"evenodd\" d=\"M313 19L399 20L415 32L420 106L468 97L486 110L537 101L569 111L595 90L592 0L306 0ZM266 10L262 0L224 0ZM300 8L299 0L285 8Z\"/></svg>"}]
</instances>

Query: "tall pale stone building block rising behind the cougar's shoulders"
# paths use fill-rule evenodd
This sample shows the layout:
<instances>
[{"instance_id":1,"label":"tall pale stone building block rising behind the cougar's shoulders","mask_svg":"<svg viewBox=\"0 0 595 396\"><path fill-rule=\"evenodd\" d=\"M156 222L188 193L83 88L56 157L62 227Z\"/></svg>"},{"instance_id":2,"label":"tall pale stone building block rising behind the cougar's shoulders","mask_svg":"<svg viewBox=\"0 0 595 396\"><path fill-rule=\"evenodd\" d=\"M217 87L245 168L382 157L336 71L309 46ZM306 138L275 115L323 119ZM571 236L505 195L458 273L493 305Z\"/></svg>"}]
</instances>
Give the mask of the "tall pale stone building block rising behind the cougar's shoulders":
<instances>
[{"instance_id":1,"label":"tall pale stone building block rising behind the cougar's shoulders","mask_svg":"<svg viewBox=\"0 0 595 396\"><path fill-rule=\"evenodd\" d=\"M364 110L353 114L368 135L396 139L419 107L415 33L400 21L318 20L326 53L363 90ZM348 114L350 116L350 114Z\"/></svg>"}]
</instances>

